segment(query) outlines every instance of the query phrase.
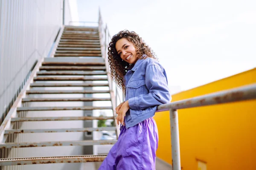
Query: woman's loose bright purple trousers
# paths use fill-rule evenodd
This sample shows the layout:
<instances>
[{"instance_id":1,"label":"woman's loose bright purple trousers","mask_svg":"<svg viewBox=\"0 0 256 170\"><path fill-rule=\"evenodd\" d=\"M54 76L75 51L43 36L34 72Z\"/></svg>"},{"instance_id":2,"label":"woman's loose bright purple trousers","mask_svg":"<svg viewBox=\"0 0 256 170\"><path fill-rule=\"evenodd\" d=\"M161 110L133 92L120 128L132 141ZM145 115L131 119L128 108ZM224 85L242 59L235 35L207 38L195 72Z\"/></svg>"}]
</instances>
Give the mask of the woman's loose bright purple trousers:
<instances>
[{"instance_id":1,"label":"woman's loose bright purple trousers","mask_svg":"<svg viewBox=\"0 0 256 170\"><path fill-rule=\"evenodd\" d=\"M99 170L155 170L157 147L158 130L152 117L123 127Z\"/></svg>"}]
</instances>

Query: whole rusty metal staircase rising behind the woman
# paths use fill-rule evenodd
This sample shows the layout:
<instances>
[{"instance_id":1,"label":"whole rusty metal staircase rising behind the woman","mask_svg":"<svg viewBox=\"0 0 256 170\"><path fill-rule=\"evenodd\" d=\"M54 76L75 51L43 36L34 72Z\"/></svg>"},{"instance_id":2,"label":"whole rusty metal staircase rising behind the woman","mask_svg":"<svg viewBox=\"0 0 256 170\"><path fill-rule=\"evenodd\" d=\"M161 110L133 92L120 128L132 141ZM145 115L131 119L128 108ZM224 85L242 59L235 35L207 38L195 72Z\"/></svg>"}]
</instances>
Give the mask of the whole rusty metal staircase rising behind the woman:
<instances>
[{"instance_id":1,"label":"whole rusty metal staircase rising behind the woman","mask_svg":"<svg viewBox=\"0 0 256 170\"><path fill-rule=\"evenodd\" d=\"M74 163L103 161L106 155L80 156L49 156L49 157L16 157L11 154L12 148L25 147L63 147L114 144L115 140L66 140L49 141L47 134L52 133L92 133L94 131L114 130L118 136L117 126L114 127L80 127L60 128L58 123L54 128L29 128L29 123L61 122L69 125L70 121L107 120L115 118L115 99L110 86L107 71L107 61L102 57L102 42L98 27L64 26L56 40L54 56L38 61L31 78L24 86L6 119L0 127L0 166ZM27 87L26 87L27 86ZM97 89L93 89L97 87ZM77 90L76 88L79 88ZM108 88L108 90L105 90ZM100 90L103 89L103 90ZM83 97L73 97L81 94ZM94 97L94 94L100 97ZM105 97L106 94L108 97ZM61 97L59 97L61 96ZM65 102L92 103L108 101L111 105L65 105ZM49 105L53 103L53 105ZM58 105L61 103L61 106ZM82 116L73 116L65 111L86 111ZM95 110L111 110L112 116L93 116ZM57 112L57 113L55 113ZM66 115L66 116L63 116ZM32 116L31 116L32 115ZM36 116L35 116L36 115ZM57 115L57 116L56 116ZM25 126L25 124L26 126ZM45 125L47 125L47 123ZM38 123L39 125L39 123ZM27 127L27 128L23 128ZM17 142L25 139L23 135L44 134L45 140L39 142ZM37 139L37 137L35 137ZM24 140L21 140L24 141ZM38 141L38 140L35 140ZM12 155L12 157L10 157ZM16 154L17 155L17 154Z\"/></svg>"}]
</instances>

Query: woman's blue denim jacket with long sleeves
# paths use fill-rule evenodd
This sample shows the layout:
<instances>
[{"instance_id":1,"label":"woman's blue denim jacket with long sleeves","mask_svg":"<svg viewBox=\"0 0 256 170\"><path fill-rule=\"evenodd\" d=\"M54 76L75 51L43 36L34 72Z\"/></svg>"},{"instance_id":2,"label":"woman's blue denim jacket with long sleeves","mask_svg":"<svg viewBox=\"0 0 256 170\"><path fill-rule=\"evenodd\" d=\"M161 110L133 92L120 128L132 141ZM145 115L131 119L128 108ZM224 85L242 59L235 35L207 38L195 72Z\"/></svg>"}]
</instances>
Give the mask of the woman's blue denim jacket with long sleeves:
<instances>
[{"instance_id":1,"label":"woman's blue denim jacket with long sleeves","mask_svg":"<svg viewBox=\"0 0 256 170\"><path fill-rule=\"evenodd\" d=\"M125 74L124 82L125 101L130 106L125 116L126 128L154 116L158 105L171 101L166 71L155 59L138 59Z\"/></svg>"}]
</instances>

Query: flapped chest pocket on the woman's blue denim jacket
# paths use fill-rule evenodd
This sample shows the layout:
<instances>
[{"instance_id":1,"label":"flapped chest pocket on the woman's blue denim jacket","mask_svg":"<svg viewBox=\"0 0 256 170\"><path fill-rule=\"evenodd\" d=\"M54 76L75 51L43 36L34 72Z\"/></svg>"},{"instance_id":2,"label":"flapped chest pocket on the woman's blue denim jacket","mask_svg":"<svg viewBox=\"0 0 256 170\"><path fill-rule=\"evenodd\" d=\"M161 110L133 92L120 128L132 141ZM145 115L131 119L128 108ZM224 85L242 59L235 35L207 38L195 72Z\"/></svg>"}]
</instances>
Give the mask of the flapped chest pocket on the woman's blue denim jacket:
<instances>
[{"instance_id":1,"label":"flapped chest pocket on the woman's blue denim jacket","mask_svg":"<svg viewBox=\"0 0 256 170\"><path fill-rule=\"evenodd\" d=\"M127 93L129 98L145 94L146 91L144 78L132 79L127 84Z\"/></svg>"}]
</instances>

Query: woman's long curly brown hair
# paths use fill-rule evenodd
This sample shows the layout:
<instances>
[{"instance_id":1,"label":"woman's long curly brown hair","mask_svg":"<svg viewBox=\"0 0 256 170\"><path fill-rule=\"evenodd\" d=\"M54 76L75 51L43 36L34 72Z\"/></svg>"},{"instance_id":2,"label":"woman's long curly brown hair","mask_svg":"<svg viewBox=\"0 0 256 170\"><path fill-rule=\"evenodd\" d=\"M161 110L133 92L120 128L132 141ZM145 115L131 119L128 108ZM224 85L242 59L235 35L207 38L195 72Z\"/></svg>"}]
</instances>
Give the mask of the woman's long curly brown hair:
<instances>
[{"instance_id":1,"label":"woman's long curly brown hair","mask_svg":"<svg viewBox=\"0 0 256 170\"><path fill-rule=\"evenodd\" d=\"M145 44L145 42L140 38L138 34L134 31L119 31L118 34L114 35L109 43L108 47L108 62L110 65L110 76L116 82L116 85L125 89L125 84L123 78L130 67L128 62L125 62L121 59L119 54L116 51L116 42L121 38L126 38L128 41L132 42L136 48L136 55L140 59L153 58L157 60L157 56L154 54L153 50ZM143 55L143 54L146 54Z\"/></svg>"}]
</instances>

